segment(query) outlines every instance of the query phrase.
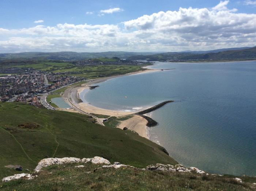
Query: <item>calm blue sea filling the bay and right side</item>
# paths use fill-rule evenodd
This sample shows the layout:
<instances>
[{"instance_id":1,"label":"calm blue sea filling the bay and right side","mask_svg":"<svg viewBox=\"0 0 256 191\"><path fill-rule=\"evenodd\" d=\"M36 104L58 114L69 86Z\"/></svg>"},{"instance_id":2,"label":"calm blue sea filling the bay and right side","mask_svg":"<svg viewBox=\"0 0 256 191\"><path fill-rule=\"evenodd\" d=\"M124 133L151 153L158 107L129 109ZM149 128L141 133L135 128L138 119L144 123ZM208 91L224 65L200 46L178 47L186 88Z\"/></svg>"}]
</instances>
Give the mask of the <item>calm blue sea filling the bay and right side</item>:
<instances>
[{"instance_id":1,"label":"calm blue sea filling the bay and right side","mask_svg":"<svg viewBox=\"0 0 256 191\"><path fill-rule=\"evenodd\" d=\"M136 110L174 100L148 114L159 123L150 128L151 140L188 167L256 176L256 61L151 68L175 70L110 79L87 92L86 101Z\"/></svg>"}]
</instances>

